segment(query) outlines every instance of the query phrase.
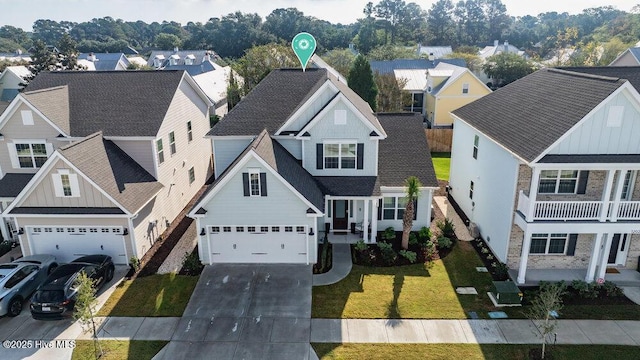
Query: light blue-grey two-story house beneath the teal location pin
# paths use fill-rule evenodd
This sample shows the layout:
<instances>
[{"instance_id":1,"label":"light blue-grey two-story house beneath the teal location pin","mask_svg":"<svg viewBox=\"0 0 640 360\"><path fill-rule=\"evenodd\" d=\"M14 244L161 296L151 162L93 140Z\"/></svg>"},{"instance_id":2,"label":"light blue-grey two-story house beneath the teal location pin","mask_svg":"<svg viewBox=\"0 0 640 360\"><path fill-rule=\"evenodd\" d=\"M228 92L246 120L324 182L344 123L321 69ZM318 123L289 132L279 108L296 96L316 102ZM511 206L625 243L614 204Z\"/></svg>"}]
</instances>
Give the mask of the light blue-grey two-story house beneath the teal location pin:
<instances>
[{"instance_id":1,"label":"light blue-grey two-story house beneath the teal location pin","mask_svg":"<svg viewBox=\"0 0 640 360\"><path fill-rule=\"evenodd\" d=\"M402 229L404 181L437 180L419 114L375 114L326 69L269 74L209 132L216 181L193 207L204 263L314 263L318 239Z\"/></svg>"}]
</instances>

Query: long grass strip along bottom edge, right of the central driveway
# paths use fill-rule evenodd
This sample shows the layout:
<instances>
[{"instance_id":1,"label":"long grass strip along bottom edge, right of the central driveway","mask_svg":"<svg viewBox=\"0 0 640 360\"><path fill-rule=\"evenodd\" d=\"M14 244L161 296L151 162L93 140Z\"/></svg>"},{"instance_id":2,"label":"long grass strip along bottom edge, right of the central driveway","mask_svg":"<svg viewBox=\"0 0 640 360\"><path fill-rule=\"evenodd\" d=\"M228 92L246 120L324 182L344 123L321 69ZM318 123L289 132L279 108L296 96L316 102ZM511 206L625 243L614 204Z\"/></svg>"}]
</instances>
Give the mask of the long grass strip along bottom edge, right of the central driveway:
<instances>
[{"instance_id":1,"label":"long grass strip along bottom edge, right of the central driveway","mask_svg":"<svg viewBox=\"0 0 640 360\"><path fill-rule=\"evenodd\" d=\"M313 349L322 360L329 359L529 359L529 350L539 345L494 344L318 344ZM640 347L619 345L555 345L547 355L558 359L638 359Z\"/></svg>"}]
</instances>

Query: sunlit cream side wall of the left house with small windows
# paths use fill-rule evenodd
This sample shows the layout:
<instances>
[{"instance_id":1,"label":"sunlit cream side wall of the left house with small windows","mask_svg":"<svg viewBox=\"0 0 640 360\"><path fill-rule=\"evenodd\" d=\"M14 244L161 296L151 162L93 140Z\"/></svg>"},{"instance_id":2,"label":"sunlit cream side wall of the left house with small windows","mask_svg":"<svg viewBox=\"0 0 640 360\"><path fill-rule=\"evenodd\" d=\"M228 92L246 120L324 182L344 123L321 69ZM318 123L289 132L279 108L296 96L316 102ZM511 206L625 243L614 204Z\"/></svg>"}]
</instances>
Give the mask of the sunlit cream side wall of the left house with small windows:
<instances>
[{"instance_id":1,"label":"sunlit cream side wall of the left house with small windows","mask_svg":"<svg viewBox=\"0 0 640 360\"><path fill-rule=\"evenodd\" d=\"M164 162L158 164L158 181L164 185L162 190L150 203L151 208L144 208L138 224L135 226L136 242L152 244L159 234L167 229L176 216L204 185L208 176L211 158L211 142L204 136L209 131L209 107L186 80L180 83L165 119L158 131L157 139L162 139ZM193 140L188 141L187 122L191 121ZM171 154L169 133L175 133L176 153ZM155 142L155 141L154 141ZM155 148L155 147L154 147ZM153 152L154 160L157 154ZM189 169L193 167L195 181L189 183ZM153 224L154 231L147 232ZM146 248L148 250L148 248ZM145 250L145 251L146 251ZM138 249L139 256L143 254Z\"/></svg>"}]
</instances>

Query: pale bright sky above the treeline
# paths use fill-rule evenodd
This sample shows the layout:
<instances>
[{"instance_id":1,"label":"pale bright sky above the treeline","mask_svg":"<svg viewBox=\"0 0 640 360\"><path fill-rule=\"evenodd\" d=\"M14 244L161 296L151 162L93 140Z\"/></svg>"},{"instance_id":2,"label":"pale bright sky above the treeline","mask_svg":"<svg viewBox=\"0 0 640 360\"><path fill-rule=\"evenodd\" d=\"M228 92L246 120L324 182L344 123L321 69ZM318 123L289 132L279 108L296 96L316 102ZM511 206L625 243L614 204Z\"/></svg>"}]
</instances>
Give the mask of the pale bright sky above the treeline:
<instances>
[{"instance_id":1,"label":"pale bright sky above the treeline","mask_svg":"<svg viewBox=\"0 0 640 360\"><path fill-rule=\"evenodd\" d=\"M379 0L0 0L0 26L12 25L31 31L37 19L90 21L111 16L147 23L189 21L205 23L235 11L258 13L263 18L277 8L295 7L307 16L332 23L350 24L362 18L367 2ZM406 0L406 2L412 2ZM435 0L413 0L424 10ZM454 3L456 0L454 0ZM512 16L538 15L548 11L576 14L583 9L612 5L629 11L638 0L502 0Z\"/></svg>"}]
</instances>

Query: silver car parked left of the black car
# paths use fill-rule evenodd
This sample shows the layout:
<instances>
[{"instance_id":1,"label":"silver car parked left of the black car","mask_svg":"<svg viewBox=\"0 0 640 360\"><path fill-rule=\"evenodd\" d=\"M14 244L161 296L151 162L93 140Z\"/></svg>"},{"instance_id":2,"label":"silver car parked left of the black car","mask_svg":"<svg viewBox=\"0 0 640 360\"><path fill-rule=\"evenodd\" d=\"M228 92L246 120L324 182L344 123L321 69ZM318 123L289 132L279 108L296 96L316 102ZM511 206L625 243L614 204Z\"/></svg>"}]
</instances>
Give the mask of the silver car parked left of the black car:
<instances>
[{"instance_id":1,"label":"silver car parked left of the black car","mask_svg":"<svg viewBox=\"0 0 640 360\"><path fill-rule=\"evenodd\" d=\"M0 316L18 316L22 304L56 267L52 255L25 256L0 264Z\"/></svg>"}]
</instances>

